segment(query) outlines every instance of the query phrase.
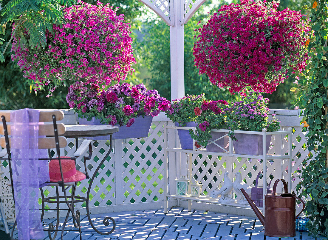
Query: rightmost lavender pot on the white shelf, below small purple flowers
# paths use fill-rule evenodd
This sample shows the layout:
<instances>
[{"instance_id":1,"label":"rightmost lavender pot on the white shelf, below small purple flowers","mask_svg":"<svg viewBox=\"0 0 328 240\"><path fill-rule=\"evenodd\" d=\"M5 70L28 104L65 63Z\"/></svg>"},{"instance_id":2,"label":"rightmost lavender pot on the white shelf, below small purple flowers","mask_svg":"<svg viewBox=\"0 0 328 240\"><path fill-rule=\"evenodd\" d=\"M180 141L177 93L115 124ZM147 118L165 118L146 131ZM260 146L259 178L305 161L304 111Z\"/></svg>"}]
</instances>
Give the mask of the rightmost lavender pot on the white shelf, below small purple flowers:
<instances>
[{"instance_id":1,"label":"rightmost lavender pot on the white shelf, below small purple flowers","mask_svg":"<svg viewBox=\"0 0 328 240\"><path fill-rule=\"evenodd\" d=\"M266 137L266 153L269 151L271 136ZM236 154L246 154L246 155L262 155L262 135L257 134L246 134L246 133L236 133L235 135L238 141L233 141L234 149Z\"/></svg>"}]
</instances>

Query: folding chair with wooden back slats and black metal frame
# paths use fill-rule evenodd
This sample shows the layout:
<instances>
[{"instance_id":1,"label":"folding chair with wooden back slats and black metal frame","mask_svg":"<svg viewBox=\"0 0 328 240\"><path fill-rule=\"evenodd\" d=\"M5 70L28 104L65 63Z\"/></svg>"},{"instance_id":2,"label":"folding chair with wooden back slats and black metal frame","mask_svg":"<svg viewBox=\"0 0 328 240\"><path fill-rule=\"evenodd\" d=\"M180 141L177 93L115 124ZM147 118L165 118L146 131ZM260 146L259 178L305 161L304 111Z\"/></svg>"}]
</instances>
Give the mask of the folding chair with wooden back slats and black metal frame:
<instances>
[{"instance_id":1,"label":"folding chair with wooden back slats and black metal frame","mask_svg":"<svg viewBox=\"0 0 328 240\"><path fill-rule=\"evenodd\" d=\"M11 187L12 187L12 192L14 192L14 185L13 185L13 179L12 179L12 170L13 170L13 164L11 163L12 156L11 156L11 149L10 149L10 133L11 133L11 128L10 128L10 111L0 111L0 116L2 119L3 125L0 126L0 135L4 135L4 137L0 138L0 145L3 148L7 149L7 159L9 160L9 168L10 168L10 181L11 181ZM44 211L45 210L55 210L57 211L57 221L56 221L56 227L54 228L54 225L51 223L48 228L48 235L50 239L54 239L57 235L57 231L61 231L61 239L63 239L63 234L64 234L64 229L66 226L66 223L68 221L68 217L70 213L72 213L72 218L73 218L73 224L75 228L78 228L79 233L80 233L80 240L82 240L81 237L81 227L80 227L80 213L77 210L76 213L74 213L74 203L76 202L84 202L86 201L85 197L76 197L75 196L75 191L76 191L76 186L77 186L77 181L71 181L71 182L65 182L67 179L72 179L72 178L66 178L63 175L63 171L65 171L65 164L66 163L72 163L74 161L74 167L76 164L76 159L80 156L86 155L87 151L89 150L89 154L87 156L83 156L84 160L84 166L85 166L85 173L84 176L86 178L89 178L88 173L87 173L87 168L85 161L91 159L92 156L92 144L91 140L84 140L79 148L75 151L72 157L62 157L60 156L60 148L63 148L67 145L67 140L65 137L60 136L63 135L66 131L65 125L63 123L57 123L57 120L62 120L64 118L64 113L61 110L53 110L53 111L48 111L48 110L40 110L40 115L39 115L39 139L38 139L38 148L39 149L48 149L49 152L49 158L46 158L47 160L50 161L49 166L58 166L57 173L53 173L59 177L58 181L50 181L47 182L46 185L51 185L55 186L56 188L56 196L52 197L44 197L43 189L42 187L40 188L41 190L41 198L42 198L42 207L40 210L41 212L41 221L44 216ZM51 136L51 137L48 137ZM57 153L57 157L51 158L50 156L50 149L55 149ZM41 159L40 159L41 160ZM45 159L42 159L45 160ZM64 164L64 165L63 165ZM49 167L50 168L50 167ZM64 168L64 170L63 170ZM79 172L79 171L77 171ZM57 174L57 175L56 175ZM81 172L79 172L81 174ZM54 178L54 177L53 177ZM62 189L63 195L59 195L59 188ZM66 191L72 188L72 193L67 193ZM45 208L45 203L54 203L56 204L55 209L46 209ZM60 208L59 205L60 203L66 203L67 209L65 208ZM67 210L66 218L63 224L62 229L59 229L59 211L60 210ZM13 230L15 228L15 224L13 226L12 232L11 232L11 238L13 235ZM55 231L54 236L51 236L51 232ZM66 229L65 231L76 231L75 229ZM2 238L1 238L2 239Z\"/></svg>"}]
</instances>

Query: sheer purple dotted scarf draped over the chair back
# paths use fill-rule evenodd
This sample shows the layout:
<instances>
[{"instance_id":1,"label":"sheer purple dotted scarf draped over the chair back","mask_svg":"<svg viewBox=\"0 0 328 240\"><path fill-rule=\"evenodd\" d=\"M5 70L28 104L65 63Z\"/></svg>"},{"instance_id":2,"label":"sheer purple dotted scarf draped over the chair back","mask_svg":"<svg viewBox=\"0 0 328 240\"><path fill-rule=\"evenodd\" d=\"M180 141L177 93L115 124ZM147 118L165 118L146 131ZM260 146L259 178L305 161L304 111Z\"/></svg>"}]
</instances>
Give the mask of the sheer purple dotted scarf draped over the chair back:
<instances>
[{"instance_id":1,"label":"sheer purple dotted scarf draped over the chair back","mask_svg":"<svg viewBox=\"0 0 328 240\"><path fill-rule=\"evenodd\" d=\"M39 110L20 109L10 114L11 158L18 239L44 237L39 208L39 185L49 181L47 149L38 149Z\"/></svg>"}]
</instances>

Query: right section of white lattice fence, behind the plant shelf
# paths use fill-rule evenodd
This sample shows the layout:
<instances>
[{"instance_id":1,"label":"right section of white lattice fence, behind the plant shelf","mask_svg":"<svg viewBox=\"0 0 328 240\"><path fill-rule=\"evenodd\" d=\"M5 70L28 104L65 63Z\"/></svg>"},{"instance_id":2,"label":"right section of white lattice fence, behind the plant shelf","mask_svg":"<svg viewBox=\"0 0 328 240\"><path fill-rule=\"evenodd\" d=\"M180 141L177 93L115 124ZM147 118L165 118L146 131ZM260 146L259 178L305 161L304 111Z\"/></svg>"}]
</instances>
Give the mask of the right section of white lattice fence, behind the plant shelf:
<instances>
[{"instance_id":1,"label":"right section of white lattice fence, behind the plant shelf","mask_svg":"<svg viewBox=\"0 0 328 240\"><path fill-rule=\"evenodd\" d=\"M305 143L305 134L299 124L298 111L293 110L275 110L276 117L281 120L281 129L287 130L293 128L292 135L292 191L297 194L296 186L300 181L304 164L306 163L307 150ZM280 114L280 115L278 115ZM288 138L282 135L273 135L269 153L287 154ZM183 165L185 159L181 159L179 165ZM192 176L194 181L198 180L203 184L204 194L209 194L211 190L220 188L223 185L224 172L230 173L229 177L235 177L233 173L240 171L242 178L247 184L254 186L256 176L263 169L262 160L247 158L231 158L205 154L194 154L192 156ZM279 178L288 179L288 161L271 160L267 163L268 183L272 180L271 186ZM296 172L296 173L294 173ZM175 177L175 176L174 176ZM262 176L260 176L262 178ZM259 186L262 180L259 180ZM172 189L172 188L171 188ZM172 193L174 194L174 193Z\"/></svg>"}]
</instances>

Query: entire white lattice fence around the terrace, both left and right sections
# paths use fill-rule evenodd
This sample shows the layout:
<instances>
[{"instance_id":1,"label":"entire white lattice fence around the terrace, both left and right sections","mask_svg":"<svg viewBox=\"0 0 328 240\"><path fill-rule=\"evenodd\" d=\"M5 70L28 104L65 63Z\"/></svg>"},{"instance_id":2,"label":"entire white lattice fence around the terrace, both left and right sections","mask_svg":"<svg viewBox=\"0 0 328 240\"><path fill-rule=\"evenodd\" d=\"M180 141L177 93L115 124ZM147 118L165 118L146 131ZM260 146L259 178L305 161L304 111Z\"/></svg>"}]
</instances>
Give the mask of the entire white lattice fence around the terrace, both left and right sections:
<instances>
[{"instance_id":1,"label":"entire white lattice fence around the terrace, both left and right sections","mask_svg":"<svg viewBox=\"0 0 328 240\"><path fill-rule=\"evenodd\" d=\"M76 122L75 114L72 113L72 111L65 111L65 123L73 124ZM309 152L305 146L305 133L302 132L302 128L299 125L297 111L275 110L275 113L277 114L276 117L281 120L282 129L293 127L295 130L292 136L292 172L293 174L295 171L301 173ZM90 195L90 207L92 211L100 213L114 211L115 209L120 211L122 207L126 208L127 206L133 206L133 209L136 210L147 209L149 207L160 208L163 206L164 134L162 133L163 126L167 122L168 119L163 115L154 118L148 138L127 139L126 141L115 140L113 152L101 166L99 174L97 174L92 185ZM176 140L174 133L170 136L172 137L169 139L169 142L175 145ZM273 147L270 149L270 152L286 152L288 139L283 138L283 147L281 148L280 145L276 144L276 142L281 142L281 140L276 139L276 137L277 136L271 141ZM65 148L65 155L69 156L75 151L75 139L70 138L68 142L69 144ZM82 141L80 141L80 143L81 142ZM87 164L90 176L92 176L101 156L105 154L107 147L108 144L106 144L106 141L93 142L93 159L89 160ZM170 178L173 179L176 176L171 176L174 175L171 173L176 171L175 168L182 167L180 163L175 162L173 156L177 155L178 154L170 155L169 171ZM185 157L181 155L181 159L183 160L184 158ZM258 171L262 170L261 162L257 159L232 159L230 157L198 154L192 156L192 162L192 176L195 180L201 181L204 193L207 194L209 194L211 190L223 185L223 175L226 170L230 172L229 176L232 178L235 176L233 173L240 171L244 181L252 186L255 184ZM8 163L5 160L1 161L1 163L5 166L3 168L3 177L9 178ZM183 161L181 163L183 163ZM172 167L174 167L174 169L172 169ZM271 161L267 164L267 167L267 176L268 178L272 178L273 181L281 177L287 178L287 161ZM77 161L77 169L83 171L84 165L82 161ZM295 193L296 185L299 181L299 177L294 174L292 189ZM174 180L172 181L171 179L169 183L170 182L174 183ZM262 181L259 181L259 183L262 183ZM85 196L88 186L88 181L82 181L77 187L77 193ZM169 189L173 189L173 187L171 186ZM45 195L54 196L55 189L47 187ZM1 197L4 196L2 195ZM10 199L8 199L8 201L10 201ZM7 206L9 208L10 206L12 207L12 205ZM101 207L97 208L97 206ZM113 208L113 206L117 207ZM83 214L85 211L85 203L77 203L75 209L80 209ZM9 213L13 210L6 209L6 211ZM45 216L49 217L51 215ZM13 218L13 214L7 216L7 218Z\"/></svg>"}]
</instances>

